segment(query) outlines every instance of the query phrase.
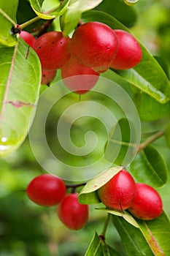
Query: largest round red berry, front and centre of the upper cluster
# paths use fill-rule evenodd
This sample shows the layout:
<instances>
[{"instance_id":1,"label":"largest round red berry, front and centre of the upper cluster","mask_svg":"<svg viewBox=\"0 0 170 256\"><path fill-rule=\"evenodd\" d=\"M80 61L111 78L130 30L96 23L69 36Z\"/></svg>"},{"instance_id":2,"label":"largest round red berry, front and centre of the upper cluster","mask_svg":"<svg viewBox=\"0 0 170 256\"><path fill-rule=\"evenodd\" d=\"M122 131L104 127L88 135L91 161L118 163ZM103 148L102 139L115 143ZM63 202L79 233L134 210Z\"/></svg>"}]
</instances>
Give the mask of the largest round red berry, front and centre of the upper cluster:
<instances>
[{"instance_id":1,"label":"largest round red berry, front and centre of the upper cluster","mask_svg":"<svg viewBox=\"0 0 170 256\"><path fill-rule=\"evenodd\" d=\"M106 24L88 22L74 31L70 48L80 63L93 67L97 72L104 72L117 51L117 37Z\"/></svg>"}]
</instances>

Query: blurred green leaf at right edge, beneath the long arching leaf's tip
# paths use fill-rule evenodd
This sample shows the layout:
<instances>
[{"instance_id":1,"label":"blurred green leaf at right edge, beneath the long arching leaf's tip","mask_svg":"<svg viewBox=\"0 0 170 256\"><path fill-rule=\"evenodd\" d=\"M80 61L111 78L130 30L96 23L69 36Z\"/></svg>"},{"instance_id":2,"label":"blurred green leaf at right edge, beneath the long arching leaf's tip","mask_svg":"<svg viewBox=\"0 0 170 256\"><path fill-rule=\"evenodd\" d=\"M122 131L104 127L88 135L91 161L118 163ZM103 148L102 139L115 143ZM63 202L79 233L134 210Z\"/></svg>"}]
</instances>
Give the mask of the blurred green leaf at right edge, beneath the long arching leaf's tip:
<instances>
[{"instance_id":1,"label":"blurred green leaf at right edge, beneath the long arching leaf's tip","mask_svg":"<svg viewBox=\"0 0 170 256\"><path fill-rule=\"evenodd\" d=\"M156 120L170 113L170 102L161 104L148 94L135 94L134 103L136 104L142 121Z\"/></svg>"}]
</instances>

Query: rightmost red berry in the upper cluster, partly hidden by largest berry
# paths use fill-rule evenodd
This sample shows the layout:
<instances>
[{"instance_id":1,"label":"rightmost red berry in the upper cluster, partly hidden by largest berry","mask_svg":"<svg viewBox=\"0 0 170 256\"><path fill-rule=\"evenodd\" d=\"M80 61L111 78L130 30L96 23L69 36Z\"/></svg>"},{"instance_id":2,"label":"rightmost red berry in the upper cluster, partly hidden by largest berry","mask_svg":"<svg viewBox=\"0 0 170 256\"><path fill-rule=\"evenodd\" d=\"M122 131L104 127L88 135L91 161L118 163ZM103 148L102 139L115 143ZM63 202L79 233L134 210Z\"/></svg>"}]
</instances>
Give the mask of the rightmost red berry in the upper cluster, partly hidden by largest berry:
<instances>
[{"instance_id":1,"label":"rightmost red berry in the upper cluster, partly hidden by largest berry","mask_svg":"<svg viewBox=\"0 0 170 256\"><path fill-rule=\"evenodd\" d=\"M126 31L115 29L118 40L118 50L110 67L113 69L131 69L142 59L139 42Z\"/></svg>"}]
</instances>

